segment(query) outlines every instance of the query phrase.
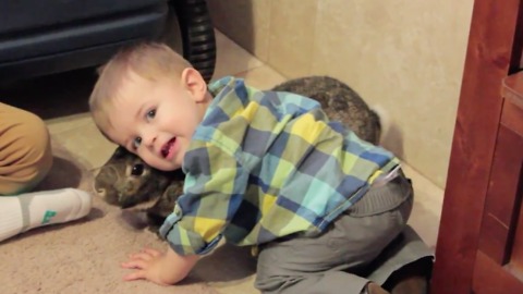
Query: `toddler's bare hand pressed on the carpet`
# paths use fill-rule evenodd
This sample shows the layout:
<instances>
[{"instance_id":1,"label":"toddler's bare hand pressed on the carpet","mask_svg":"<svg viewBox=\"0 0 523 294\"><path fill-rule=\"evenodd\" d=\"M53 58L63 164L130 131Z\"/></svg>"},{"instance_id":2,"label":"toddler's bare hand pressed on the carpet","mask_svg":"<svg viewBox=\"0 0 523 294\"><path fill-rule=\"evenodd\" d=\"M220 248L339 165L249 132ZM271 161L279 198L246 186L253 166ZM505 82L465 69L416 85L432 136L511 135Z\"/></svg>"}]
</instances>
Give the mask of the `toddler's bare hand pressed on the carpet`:
<instances>
[{"instance_id":1,"label":"toddler's bare hand pressed on the carpet","mask_svg":"<svg viewBox=\"0 0 523 294\"><path fill-rule=\"evenodd\" d=\"M183 280L193 269L198 255L178 255L168 246L167 253L144 248L142 252L130 255L130 260L123 262L122 267L126 269L137 269L125 275L126 281L149 280L160 285L175 284Z\"/></svg>"}]
</instances>

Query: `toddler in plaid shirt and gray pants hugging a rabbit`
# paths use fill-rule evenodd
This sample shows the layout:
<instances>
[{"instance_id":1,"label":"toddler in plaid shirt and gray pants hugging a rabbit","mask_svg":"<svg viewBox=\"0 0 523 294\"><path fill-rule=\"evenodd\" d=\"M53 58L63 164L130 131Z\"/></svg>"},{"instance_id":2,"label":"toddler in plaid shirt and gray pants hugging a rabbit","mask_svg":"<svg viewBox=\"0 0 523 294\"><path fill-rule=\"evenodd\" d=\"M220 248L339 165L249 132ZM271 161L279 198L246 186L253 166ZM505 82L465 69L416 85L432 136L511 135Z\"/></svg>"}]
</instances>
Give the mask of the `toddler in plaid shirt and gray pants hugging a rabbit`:
<instances>
[{"instance_id":1,"label":"toddler in plaid shirt and gray pants hugging a rabbit","mask_svg":"<svg viewBox=\"0 0 523 294\"><path fill-rule=\"evenodd\" d=\"M167 250L131 255L126 280L178 283L223 237L257 249L263 293L387 293L360 273L404 230L411 183L315 100L230 76L208 86L167 46L142 44L100 70L89 106L111 142L186 176L160 228Z\"/></svg>"}]
</instances>

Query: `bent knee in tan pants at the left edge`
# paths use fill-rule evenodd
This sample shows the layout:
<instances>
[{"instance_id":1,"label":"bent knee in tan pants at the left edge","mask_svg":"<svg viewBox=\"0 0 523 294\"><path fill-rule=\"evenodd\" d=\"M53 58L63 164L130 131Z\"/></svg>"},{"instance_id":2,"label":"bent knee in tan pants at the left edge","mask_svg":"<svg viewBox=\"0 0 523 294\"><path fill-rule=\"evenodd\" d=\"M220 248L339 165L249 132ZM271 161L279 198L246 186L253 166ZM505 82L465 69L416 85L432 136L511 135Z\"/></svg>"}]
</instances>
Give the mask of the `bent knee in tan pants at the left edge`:
<instances>
[{"instance_id":1,"label":"bent knee in tan pants at the left edge","mask_svg":"<svg viewBox=\"0 0 523 294\"><path fill-rule=\"evenodd\" d=\"M29 191L51 163L45 123L31 112L0 103L0 195Z\"/></svg>"}]
</instances>

